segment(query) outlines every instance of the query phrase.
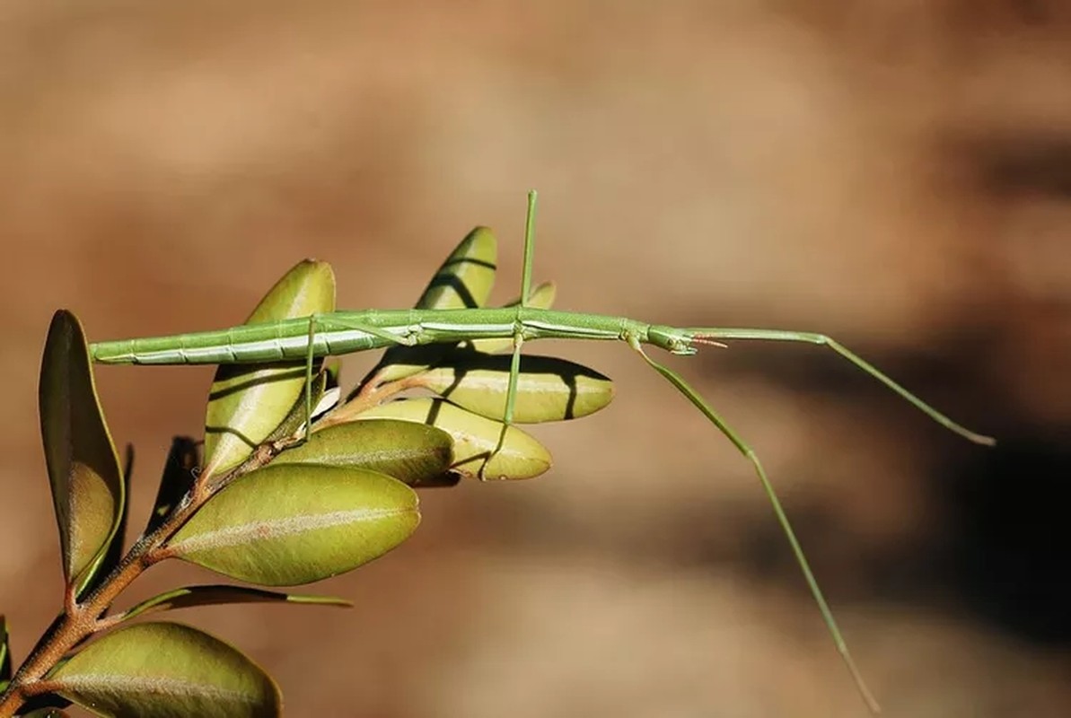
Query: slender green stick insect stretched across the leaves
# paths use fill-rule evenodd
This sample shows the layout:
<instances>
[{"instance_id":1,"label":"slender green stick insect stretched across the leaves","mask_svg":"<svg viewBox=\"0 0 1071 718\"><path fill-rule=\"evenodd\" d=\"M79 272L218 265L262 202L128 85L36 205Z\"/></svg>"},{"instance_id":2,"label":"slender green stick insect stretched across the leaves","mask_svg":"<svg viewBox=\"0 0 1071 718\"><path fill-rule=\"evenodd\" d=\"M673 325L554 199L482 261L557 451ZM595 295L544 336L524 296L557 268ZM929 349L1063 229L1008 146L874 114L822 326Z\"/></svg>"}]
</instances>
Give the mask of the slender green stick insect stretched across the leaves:
<instances>
[{"instance_id":1,"label":"slender green stick insect stretched across the leaves","mask_svg":"<svg viewBox=\"0 0 1071 718\"><path fill-rule=\"evenodd\" d=\"M517 408L517 384L522 375L522 346L527 341L542 338L623 341L692 402L751 462L803 572L811 594L818 605L838 652L866 705L872 712L877 713L879 711L877 701L868 689L851 654L848 652L832 611L755 452L679 373L651 358L645 351L644 345L679 355L695 354L699 347L724 346L722 342L737 339L793 341L825 346L877 379L947 429L977 444L993 445L994 439L970 431L953 422L859 355L824 334L765 329L681 329L649 324L623 317L558 311L534 306L531 301L534 211L536 193L531 192L528 196L528 213L525 223L521 300L512 306L459 309L365 309L314 314L284 321L259 321L214 332L102 341L92 345L92 358L102 364L231 365L304 361L306 419L304 426L306 427L305 433L307 433L307 427L312 426L311 419L313 418L313 367L316 360L392 347L395 349L391 351L396 352L420 352L422 350L434 352L435 347L479 346L481 342L486 346L489 340L498 340L499 346L501 346L502 340L508 340L512 343L513 351L509 366L509 382L501 431L494 450L484 456L479 471L480 478L493 478L497 476L494 476L493 472L492 475L487 475L488 467L503 447L507 431L513 423ZM492 265L491 269L494 266ZM380 367L382 366L381 362ZM362 392L369 387L375 391L376 385L380 383L376 381L363 382L365 388ZM404 386L404 382L401 384L395 382L395 384Z\"/></svg>"}]
</instances>

